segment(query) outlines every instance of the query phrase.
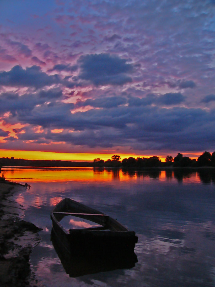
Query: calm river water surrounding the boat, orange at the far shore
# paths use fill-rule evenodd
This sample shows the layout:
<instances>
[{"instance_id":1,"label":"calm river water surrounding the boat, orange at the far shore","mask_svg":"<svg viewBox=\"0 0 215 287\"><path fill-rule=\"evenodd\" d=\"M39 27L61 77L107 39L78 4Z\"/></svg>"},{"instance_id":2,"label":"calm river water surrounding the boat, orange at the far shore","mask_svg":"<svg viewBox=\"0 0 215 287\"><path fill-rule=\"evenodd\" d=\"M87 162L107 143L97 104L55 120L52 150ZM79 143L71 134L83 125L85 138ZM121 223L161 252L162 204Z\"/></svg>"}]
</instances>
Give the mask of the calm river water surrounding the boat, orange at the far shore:
<instances>
[{"instance_id":1,"label":"calm river water surrounding the boat, orange at the far shore","mask_svg":"<svg viewBox=\"0 0 215 287\"><path fill-rule=\"evenodd\" d=\"M29 183L17 201L43 228L30 262L45 286L215 286L215 171L7 168ZM98 209L139 237L130 269L69 277L50 241L50 212L64 197Z\"/></svg>"}]
</instances>

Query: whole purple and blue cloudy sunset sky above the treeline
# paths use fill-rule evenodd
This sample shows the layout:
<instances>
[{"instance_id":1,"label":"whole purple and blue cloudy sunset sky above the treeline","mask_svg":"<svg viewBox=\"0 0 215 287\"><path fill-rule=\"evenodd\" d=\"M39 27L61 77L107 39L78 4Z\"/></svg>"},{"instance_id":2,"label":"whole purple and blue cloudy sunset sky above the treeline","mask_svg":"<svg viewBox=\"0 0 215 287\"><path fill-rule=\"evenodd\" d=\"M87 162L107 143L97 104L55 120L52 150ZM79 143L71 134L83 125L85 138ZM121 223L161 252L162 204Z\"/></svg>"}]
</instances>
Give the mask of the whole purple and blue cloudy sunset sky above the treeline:
<instances>
[{"instance_id":1,"label":"whole purple and blue cloudy sunset sky above the treeline","mask_svg":"<svg viewBox=\"0 0 215 287\"><path fill-rule=\"evenodd\" d=\"M0 19L0 157L215 150L214 0L1 0Z\"/></svg>"}]
</instances>

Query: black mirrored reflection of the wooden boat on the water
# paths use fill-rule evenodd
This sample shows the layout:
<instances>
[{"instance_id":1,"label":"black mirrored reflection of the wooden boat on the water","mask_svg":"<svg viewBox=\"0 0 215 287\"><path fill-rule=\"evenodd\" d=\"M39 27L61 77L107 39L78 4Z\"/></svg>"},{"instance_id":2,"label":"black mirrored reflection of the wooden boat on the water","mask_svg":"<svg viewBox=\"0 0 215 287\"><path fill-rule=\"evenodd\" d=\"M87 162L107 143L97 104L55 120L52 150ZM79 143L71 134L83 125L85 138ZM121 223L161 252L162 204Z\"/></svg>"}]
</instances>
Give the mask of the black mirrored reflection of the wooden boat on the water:
<instances>
[{"instance_id":1,"label":"black mirrored reflection of the wooden boat on the water","mask_svg":"<svg viewBox=\"0 0 215 287\"><path fill-rule=\"evenodd\" d=\"M115 269L130 269L135 266L136 262L138 262L134 251L114 254L107 250L106 253L103 252L100 255L73 255L67 252L53 229L51 232L51 241L61 260L65 272L69 274L70 277L79 277L86 274L111 271Z\"/></svg>"}]
</instances>

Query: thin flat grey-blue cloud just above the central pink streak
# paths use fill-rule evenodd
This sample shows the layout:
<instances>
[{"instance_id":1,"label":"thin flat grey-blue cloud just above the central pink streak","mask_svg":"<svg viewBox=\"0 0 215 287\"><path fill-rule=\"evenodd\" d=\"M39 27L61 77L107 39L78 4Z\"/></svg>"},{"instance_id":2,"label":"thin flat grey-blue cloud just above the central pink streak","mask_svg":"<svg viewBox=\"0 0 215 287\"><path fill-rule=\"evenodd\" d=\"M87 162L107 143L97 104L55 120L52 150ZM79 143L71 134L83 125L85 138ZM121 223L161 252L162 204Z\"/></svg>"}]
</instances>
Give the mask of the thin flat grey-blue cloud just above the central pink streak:
<instances>
[{"instance_id":1,"label":"thin flat grey-blue cloud just above the central pink streak","mask_svg":"<svg viewBox=\"0 0 215 287\"><path fill-rule=\"evenodd\" d=\"M92 106L94 108L113 108L123 105L127 102L123 97L102 97L96 99L87 99L86 101L77 101L76 107Z\"/></svg>"}]
</instances>

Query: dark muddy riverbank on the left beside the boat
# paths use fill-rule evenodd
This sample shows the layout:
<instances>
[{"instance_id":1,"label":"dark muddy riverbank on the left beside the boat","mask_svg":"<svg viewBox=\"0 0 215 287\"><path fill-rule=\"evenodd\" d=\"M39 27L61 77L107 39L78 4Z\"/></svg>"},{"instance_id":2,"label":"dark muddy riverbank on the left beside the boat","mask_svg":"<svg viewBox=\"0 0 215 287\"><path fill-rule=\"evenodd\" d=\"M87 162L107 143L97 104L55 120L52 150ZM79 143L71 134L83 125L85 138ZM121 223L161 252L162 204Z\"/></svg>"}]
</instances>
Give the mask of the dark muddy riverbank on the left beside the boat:
<instances>
[{"instance_id":1,"label":"dark muddy riverbank on the left beside the boat","mask_svg":"<svg viewBox=\"0 0 215 287\"><path fill-rule=\"evenodd\" d=\"M25 209L11 196L25 192L26 187L10 181L0 181L0 282L1 286L37 284L31 272L29 256L40 242L38 228L22 220Z\"/></svg>"}]
</instances>

